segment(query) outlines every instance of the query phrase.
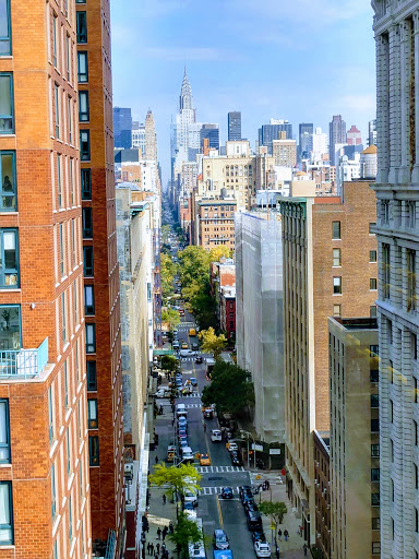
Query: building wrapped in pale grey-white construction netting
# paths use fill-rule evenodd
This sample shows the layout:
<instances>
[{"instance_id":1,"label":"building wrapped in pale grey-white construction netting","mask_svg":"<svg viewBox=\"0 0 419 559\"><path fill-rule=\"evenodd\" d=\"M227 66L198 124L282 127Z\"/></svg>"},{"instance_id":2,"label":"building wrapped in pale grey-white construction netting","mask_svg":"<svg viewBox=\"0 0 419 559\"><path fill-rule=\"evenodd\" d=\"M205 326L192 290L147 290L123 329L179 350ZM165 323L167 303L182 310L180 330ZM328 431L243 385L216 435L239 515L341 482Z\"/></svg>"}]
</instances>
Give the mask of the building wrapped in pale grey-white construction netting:
<instances>
[{"instance_id":1,"label":"building wrapped in pale grey-white construction netting","mask_svg":"<svg viewBox=\"0 0 419 559\"><path fill-rule=\"evenodd\" d=\"M238 365L252 374L258 437L284 444L283 240L272 217L236 214L236 345Z\"/></svg>"}]
</instances>

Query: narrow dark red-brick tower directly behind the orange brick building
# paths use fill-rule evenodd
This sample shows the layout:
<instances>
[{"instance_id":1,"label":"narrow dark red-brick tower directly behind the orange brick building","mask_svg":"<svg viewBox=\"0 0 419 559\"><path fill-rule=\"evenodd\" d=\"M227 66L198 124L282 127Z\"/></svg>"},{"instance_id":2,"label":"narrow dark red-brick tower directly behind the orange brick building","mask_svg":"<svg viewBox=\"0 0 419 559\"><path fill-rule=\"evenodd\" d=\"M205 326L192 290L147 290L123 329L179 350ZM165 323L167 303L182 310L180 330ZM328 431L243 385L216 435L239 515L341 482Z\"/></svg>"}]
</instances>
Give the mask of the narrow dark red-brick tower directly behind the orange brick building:
<instances>
[{"instance_id":1,"label":"narrow dark red-brick tower directly behind the orange brick building","mask_svg":"<svg viewBox=\"0 0 419 559\"><path fill-rule=\"evenodd\" d=\"M77 3L76 20L79 97L88 100L87 114L80 114L79 120L92 537L105 545L109 542L118 559L124 551L124 491L109 4ZM82 68L87 69L88 80ZM130 109L115 111L117 118L127 115L130 147Z\"/></svg>"}]
</instances>

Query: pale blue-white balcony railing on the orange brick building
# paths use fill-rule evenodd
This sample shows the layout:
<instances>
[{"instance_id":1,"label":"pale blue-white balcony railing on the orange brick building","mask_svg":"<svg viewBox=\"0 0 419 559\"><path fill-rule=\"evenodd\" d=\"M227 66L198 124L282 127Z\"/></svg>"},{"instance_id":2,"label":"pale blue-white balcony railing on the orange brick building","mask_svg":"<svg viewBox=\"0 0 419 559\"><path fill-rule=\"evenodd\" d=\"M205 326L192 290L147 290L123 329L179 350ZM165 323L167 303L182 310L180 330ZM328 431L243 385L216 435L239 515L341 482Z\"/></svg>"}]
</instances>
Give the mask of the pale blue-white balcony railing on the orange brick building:
<instances>
[{"instance_id":1,"label":"pale blue-white balcony railing on the orange brick building","mask_svg":"<svg viewBox=\"0 0 419 559\"><path fill-rule=\"evenodd\" d=\"M31 379L37 377L48 362L48 337L36 349L5 349L0 352L0 380L7 377Z\"/></svg>"}]
</instances>

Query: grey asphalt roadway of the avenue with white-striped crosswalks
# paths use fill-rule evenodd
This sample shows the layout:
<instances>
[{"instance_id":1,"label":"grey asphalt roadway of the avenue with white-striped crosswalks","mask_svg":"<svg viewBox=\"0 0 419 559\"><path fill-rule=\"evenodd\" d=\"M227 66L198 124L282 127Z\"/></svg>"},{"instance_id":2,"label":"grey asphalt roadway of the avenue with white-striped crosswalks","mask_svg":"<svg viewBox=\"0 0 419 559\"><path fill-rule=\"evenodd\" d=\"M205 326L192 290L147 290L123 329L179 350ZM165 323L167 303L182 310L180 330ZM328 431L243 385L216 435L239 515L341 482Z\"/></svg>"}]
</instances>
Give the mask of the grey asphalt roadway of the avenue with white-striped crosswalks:
<instances>
[{"instance_id":1,"label":"grey asphalt roadway of the avenue with white-striped crosswalks","mask_svg":"<svg viewBox=\"0 0 419 559\"><path fill-rule=\"evenodd\" d=\"M189 347L196 340L189 337L188 332L192 325L194 325L194 318L187 311L178 325L178 337L179 341L185 341ZM207 383L205 362L195 364L194 358L185 358L181 360L181 368L183 382L190 377L195 377L197 380L197 386L194 388L192 395L179 397L176 401L176 403L185 404L188 409L188 442L193 452L208 453L212 463L211 466L195 464L202 474L197 516L202 519L204 533L210 536L211 540L215 528L222 527L226 531L235 559L254 559L253 543L238 493L239 486L250 485L249 474L243 467L231 466L225 443L211 441L211 430L218 428L216 418L205 420L206 432L204 432L201 392ZM158 403L160 402L164 401L158 401ZM167 411L169 409L168 402L165 407ZM164 418L157 420L157 425L160 435L159 449L161 449L160 452L165 452L167 445L176 439L175 428L171 426L171 415L165 414ZM231 500L224 500L219 497L222 487L226 486L234 489L235 497ZM206 547L207 558L212 559L213 546L210 543Z\"/></svg>"}]
</instances>

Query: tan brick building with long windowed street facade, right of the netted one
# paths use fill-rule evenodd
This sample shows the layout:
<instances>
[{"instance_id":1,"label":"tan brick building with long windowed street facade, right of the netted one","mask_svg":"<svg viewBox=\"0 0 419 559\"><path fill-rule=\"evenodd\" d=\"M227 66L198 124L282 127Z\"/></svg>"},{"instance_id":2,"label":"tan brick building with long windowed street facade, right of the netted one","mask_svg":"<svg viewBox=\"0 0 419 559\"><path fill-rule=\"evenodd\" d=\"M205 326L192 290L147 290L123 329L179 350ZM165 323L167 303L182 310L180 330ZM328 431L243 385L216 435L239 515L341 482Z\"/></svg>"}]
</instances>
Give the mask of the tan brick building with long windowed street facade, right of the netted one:
<instances>
[{"instance_id":1,"label":"tan brick building with long windowed street facade, right of the netted one","mask_svg":"<svg viewBox=\"0 0 419 559\"><path fill-rule=\"evenodd\" d=\"M330 428L327 317L375 312L375 200L369 182L346 182L340 197L284 198L280 211L287 488L314 544L313 430Z\"/></svg>"}]
</instances>

